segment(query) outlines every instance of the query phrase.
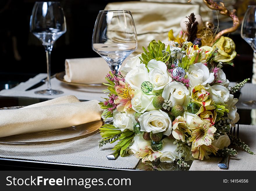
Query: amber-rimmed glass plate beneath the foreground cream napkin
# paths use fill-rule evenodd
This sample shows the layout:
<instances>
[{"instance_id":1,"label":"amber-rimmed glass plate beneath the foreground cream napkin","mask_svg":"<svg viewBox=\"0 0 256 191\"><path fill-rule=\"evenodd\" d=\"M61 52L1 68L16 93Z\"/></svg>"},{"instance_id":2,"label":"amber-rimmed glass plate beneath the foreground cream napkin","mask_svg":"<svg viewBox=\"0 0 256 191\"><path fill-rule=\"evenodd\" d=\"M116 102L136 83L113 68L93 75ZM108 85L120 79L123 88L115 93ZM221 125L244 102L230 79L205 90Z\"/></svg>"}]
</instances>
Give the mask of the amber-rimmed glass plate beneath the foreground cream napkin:
<instances>
[{"instance_id":1,"label":"amber-rimmed glass plate beneath the foreground cream napkin","mask_svg":"<svg viewBox=\"0 0 256 191\"><path fill-rule=\"evenodd\" d=\"M24 106L6 107L3 109L18 109ZM67 128L33 132L26 134L0 137L0 145L5 146L58 146L62 143L82 139L99 132L99 128L104 124L103 120L93 121L81 125Z\"/></svg>"}]
</instances>

